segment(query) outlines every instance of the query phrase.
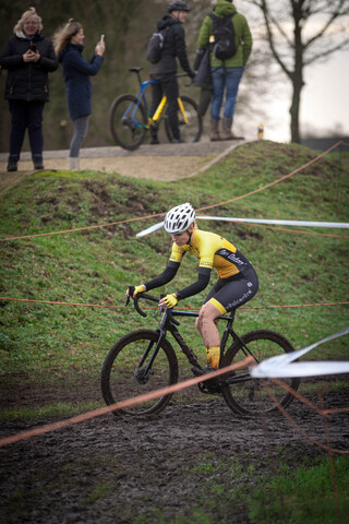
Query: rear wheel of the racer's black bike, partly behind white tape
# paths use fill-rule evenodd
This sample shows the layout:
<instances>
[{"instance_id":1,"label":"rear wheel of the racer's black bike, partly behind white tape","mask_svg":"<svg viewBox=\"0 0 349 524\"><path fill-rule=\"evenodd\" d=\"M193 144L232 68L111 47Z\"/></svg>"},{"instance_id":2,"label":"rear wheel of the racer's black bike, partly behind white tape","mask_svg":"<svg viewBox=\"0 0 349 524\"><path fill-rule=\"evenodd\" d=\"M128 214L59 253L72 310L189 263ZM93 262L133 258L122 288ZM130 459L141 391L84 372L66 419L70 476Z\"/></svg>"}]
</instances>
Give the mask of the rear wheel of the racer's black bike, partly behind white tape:
<instances>
[{"instance_id":1,"label":"rear wheel of the racer's black bike, partly behind white tape","mask_svg":"<svg viewBox=\"0 0 349 524\"><path fill-rule=\"evenodd\" d=\"M251 331L241 338L256 362L294 350L287 338L273 331ZM221 367L238 364L244 358L245 354L242 350L242 345L239 341L236 341L228 348ZM282 382L297 391L300 380L298 378L282 379ZM248 367L237 369L233 377L227 378L227 381L221 384L221 393L230 409L240 415L273 412L278 408L278 405L287 407L293 400L291 393L272 380L252 379Z\"/></svg>"}]
</instances>

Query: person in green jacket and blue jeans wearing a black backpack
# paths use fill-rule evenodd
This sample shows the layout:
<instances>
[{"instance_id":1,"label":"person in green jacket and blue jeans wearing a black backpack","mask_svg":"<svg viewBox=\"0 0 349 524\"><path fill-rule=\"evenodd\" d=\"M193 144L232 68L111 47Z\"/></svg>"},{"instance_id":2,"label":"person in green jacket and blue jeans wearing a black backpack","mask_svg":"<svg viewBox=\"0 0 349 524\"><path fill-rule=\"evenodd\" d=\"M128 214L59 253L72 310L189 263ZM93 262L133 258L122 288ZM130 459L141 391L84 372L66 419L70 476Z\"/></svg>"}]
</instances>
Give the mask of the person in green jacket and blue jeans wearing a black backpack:
<instances>
[{"instance_id":1,"label":"person in green jacket and blue jeans wearing a black backpack","mask_svg":"<svg viewBox=\"0 0 349 524\"><path fill-rule=\"evenodd\" d=\"M252 35L246 19L237 12L232 0L218 0L214 12L202 24L198 45L210 49L214 96L210 106L210 140L242 140L232 131L239 84L252 50ZM221 130L220 109L226 102Z\"/></svg>"}]
</instances>

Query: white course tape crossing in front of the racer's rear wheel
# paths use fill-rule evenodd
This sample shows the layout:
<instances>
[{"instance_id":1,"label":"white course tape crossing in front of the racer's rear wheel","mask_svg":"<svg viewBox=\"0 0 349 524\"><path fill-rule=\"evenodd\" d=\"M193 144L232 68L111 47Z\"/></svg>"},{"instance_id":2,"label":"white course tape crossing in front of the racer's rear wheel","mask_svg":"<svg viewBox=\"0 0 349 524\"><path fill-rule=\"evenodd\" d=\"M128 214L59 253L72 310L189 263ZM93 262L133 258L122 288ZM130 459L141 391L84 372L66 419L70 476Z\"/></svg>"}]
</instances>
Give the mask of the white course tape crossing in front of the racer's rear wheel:
<instances>
[{"instance_id":1,"label":"white course tape crossing in front of the racer's rear wheel","mask_svg":"<svg viewBox=\"0 0 349 524\"><path fill-rule=\"evenodd\" d=\"M258 366L250 367L250 374L255 379L262 378L286 378L286 377L314 377L320 374L337 374L349 373L349 360L335 361L316 361L316 362L294 362L298 358L311 352L314 347L324 344L325 342L333 341L339 336L347 335L349 327L329 335L322 341L315 342L311 346L306 346L298 352L287 353L278 355L276 357L268 358Z\"/></svg>"}]
</instances>

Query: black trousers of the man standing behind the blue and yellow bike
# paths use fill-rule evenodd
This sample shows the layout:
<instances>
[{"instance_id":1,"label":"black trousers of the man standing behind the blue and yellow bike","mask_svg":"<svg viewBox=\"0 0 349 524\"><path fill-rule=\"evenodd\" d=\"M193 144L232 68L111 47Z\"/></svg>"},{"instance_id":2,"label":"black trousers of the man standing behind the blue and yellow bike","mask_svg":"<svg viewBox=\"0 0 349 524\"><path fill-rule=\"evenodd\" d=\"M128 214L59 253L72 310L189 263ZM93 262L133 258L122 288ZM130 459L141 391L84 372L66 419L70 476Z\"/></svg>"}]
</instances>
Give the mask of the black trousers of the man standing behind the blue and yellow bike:
<instances>
[{"instance_id":1,"label":"black trousers of the man standing behind the blue and yellow bike","mask_svg":"<svg viewBox=\"0 0 349 524\"><path fill-rule=\"evenodd\" d=\"M151 75L152 78L152 75ZM155 80L155 79L152 79ZM152 85L152 105L151 105L151 116L153 117L158 105L161 102L163 96L167 98L167 118L168 123L171 129L172 138L180 140L179 123L178 123L178 97L179 97L179 87L177 78L174 74L168 74L163 76L160 80L157 80L157 84ZM152 130L152 136L157 135L156 130Z\"/></svg>"}]
</instances>

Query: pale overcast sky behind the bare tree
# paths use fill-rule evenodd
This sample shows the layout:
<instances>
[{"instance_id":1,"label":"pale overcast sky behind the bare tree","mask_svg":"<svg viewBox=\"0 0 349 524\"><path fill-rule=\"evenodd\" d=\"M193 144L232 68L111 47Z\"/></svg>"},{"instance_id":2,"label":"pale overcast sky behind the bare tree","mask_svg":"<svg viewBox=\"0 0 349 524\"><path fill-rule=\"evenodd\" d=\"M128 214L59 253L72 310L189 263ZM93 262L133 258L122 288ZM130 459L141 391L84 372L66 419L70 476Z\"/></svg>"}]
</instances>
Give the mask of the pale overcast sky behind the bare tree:
<instances>
[{"instance_id":1,"label":"pale overcast sky behind the bare tree","mask_svg":"<svg viewBox=\"0 0 349 524\"><path fill-rule=\"evenodd\" d=\"M234 3L238 4L238 10L249 17L249 5L243 1ZM323 20L320 17L317 23L322 26ZM313 27L315 26L309 23L310 33ZM292 32L293 26L290 24L285 28ZM258 34L258 25L253 26L253 34ZM301 135L312 131L317 136L328 136L337 130L339 135L349 136L349 50L330 55L325 63L314 62L305 67L303 74L305 85L301 92ZM263 123L265 139L277 142L290 141L291 83L281 70L279 75L281 83L270 99L260 105L261 115L256 111L255 118L251 121L236 118L237 130L243 132L249 140L256 138L257 126ZM263 111L267 117L262 117Z\"/></svg>"}]
</instances>

